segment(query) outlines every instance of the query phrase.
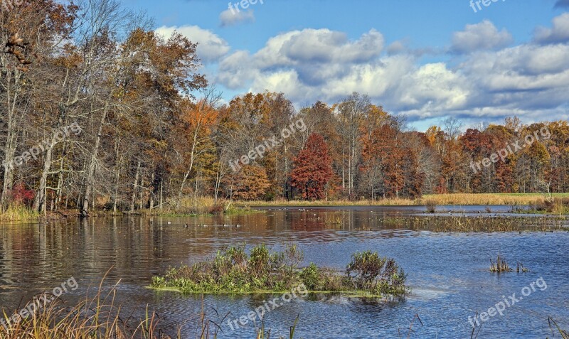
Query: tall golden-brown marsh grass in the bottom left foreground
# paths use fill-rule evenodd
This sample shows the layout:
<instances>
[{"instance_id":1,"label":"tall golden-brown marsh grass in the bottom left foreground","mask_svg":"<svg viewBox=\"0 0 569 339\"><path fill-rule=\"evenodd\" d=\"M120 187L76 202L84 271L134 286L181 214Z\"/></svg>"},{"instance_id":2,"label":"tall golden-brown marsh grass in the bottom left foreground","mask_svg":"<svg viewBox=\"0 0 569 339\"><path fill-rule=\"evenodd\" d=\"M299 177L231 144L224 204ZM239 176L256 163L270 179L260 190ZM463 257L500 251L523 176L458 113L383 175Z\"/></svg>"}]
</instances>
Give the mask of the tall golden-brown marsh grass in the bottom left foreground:
<instances>
[{"instance_id":1,"label":"tall golden-brown marsh grass in the bottom left foreground","mask_svg":"<svg viewBox=\"0 0 569 339\"><path fill-rule=\"evenodd\" d=\"M161 317L149 310L144 309L144 318L135 321L131 315L124 315L123 307L115 304L117 286L112 286L110 291L103 292L102 279L94 296L85 296L74 306L68 306L60 298L55 298L35 313L20 319L16 323L9 319L16 310L1 310L1 315L6 321L6 326L0 325L0 339L62 339L62 338L85 338L85 339L181 339L191 338L187 335L182 337L181 326L176 328L164 328L161 325ZM206 307L202 296L202 306L199 321L191 324L195 329L196 339L216 339L222 332L220 323L211 321L206 315ZM294 337L294 330L299 317L290 328L289 339ZM176 333L173 337L166 334ZM271 337L270 330L261 330L251 333L251 338L275 338Z\"/></svg>"}]
</instances>

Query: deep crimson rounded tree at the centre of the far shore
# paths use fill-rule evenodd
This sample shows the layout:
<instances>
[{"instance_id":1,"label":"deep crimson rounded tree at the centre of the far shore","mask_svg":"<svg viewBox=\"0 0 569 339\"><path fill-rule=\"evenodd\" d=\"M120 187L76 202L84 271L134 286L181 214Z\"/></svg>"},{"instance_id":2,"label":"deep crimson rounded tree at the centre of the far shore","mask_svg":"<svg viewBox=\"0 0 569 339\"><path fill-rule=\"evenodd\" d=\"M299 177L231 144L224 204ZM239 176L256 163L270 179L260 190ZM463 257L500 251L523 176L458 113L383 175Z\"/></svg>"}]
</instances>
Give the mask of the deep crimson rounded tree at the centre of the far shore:
<instances>
[{"instance_id":1,"label":"deep crimson rounded tree at the centre of the far shore","mask_svg":"<svg viewBox=\"0 0 569 339\"><path fill-rule=\"evenodd\" d=\"M326 141L320 134L311 134L306 147L294 158L290 174L292 187L302 193L304 199L325 198L326 185L333 175L331 164Z\"/></svg>"}]
</instances>

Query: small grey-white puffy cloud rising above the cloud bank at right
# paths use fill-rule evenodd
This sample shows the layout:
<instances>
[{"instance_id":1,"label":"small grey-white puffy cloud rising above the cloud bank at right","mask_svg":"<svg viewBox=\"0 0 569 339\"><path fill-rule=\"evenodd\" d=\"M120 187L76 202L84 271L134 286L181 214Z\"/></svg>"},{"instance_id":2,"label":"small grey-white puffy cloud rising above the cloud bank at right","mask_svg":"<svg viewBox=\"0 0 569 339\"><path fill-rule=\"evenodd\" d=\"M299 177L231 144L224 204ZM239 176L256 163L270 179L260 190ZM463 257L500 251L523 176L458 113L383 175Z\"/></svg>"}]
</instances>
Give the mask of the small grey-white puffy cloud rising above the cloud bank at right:
<instances>
[{"instance_id":1,"label":"small grey-white puffy cloud rising above the cloud bank at right","mask_svg":"<svg viewBox=\"0 0 569 339\"><path fill-rule=\"evenodd\" d=\"M504 48L511 42L511 34L506 29L498 31L494 23L484 20L467 25L464 31L455 32L450 50L453 53L472 53L477 50Z\"/></svg>"}]
</instances>

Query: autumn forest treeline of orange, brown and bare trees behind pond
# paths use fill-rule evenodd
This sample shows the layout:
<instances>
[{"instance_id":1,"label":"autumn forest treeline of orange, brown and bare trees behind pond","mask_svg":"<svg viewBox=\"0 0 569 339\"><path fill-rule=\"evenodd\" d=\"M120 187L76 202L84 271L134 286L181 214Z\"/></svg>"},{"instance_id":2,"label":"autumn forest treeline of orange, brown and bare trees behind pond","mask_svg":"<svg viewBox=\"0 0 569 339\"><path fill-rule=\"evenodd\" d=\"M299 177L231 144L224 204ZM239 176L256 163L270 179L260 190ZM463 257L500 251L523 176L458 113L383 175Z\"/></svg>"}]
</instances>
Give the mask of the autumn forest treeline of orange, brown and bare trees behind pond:
<instances>
[{"instance_id":1,"label":"autumn forest treeline of orange, brown and bare trees behind pond","mask_svg":"<svg viewBox=\"0 0 569 339\"><path fill-rule=\"evenodd\" d=\"M4 210L569 188L567 121L511 117L464 132L447 119L423 133L358 93L302 109L275 92L227 103L199 73L196 44L157 36L119 1L23 1L0 18ZM543 128L550 138L473 171Z\"/></svg>"}]
</instances>

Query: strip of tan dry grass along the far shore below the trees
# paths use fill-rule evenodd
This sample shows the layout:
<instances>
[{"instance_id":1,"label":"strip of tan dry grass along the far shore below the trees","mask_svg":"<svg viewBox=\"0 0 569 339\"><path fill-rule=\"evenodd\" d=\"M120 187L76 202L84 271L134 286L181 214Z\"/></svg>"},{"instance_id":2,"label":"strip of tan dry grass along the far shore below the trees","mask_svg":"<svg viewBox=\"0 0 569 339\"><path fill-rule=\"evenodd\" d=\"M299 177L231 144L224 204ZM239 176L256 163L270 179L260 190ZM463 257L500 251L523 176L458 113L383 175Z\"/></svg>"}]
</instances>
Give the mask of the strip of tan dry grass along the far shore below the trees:
<instances>
[{"instance_id":1,"label":"strip of tan dry grass along the far shore below the trees","mask_svg":"<svg viewBox=\"0 0 569 339\"><path fill-rule=\"evenodd\" d=\"M569 193L553 194L555 198L569 198ZM429 194L422 198L411 199L383 199L383 200L275 200L275 201L249 201L236 202L238 206L341 206L341 205L385 205L385 206L405 206L405 205L425 205L432 202L435 205L528 205L543 201L545 195L541 193L484 193L484 194Z\"/></svg>"}]
</instances>

